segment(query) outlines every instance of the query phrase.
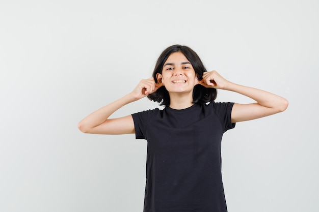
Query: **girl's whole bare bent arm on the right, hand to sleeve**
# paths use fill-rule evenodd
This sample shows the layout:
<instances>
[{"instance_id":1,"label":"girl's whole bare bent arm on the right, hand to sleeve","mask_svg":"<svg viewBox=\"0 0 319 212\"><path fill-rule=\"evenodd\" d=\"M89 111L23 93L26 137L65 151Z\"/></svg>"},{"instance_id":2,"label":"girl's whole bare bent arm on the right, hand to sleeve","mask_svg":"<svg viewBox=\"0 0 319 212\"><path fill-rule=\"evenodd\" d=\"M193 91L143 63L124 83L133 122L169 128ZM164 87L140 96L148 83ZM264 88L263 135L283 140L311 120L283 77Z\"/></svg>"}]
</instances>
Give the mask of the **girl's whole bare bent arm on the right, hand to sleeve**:
<instances>
[{"instance_id":1,"label":"girl's whole bare bent arm on the right, hand to sleeve","mask_svg":"<svg viewBox=\"0 0 319 212\"><path fill-rule=\"evenodd\" d=\"M245 95L256 103L235 103L231 111L231 122L243 122L284 111L288 107L288 101L275 94L264 90L238 85L227 81L216 71L205 72L200 83L206 87L230 90Z\"/></svg>"}]
</instances>

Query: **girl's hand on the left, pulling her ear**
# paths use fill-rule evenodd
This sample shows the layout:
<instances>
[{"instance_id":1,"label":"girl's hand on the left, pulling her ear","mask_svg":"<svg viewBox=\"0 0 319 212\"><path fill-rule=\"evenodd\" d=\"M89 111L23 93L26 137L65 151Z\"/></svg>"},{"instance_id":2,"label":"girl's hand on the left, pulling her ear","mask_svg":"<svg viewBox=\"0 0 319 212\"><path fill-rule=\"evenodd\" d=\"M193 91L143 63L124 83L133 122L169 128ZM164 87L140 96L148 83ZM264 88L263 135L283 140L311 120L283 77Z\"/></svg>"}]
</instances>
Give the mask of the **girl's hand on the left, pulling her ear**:
<instances>
[{"instance_id":1,"label":"girl's hand on the left, pulling her ear","mask_svg":"<svg viewBox=\"0 0 319 212\"><path fill-rule=\"evenodd\" d=\"M139 100L143 97L146 97L149 94L156 92L156 90L159 87L161 87L161 84L155 83L153 77L148 79L142 79L140 83L131 92L131 94L133 95L133 98L135 100Z\"/></svg>"}]
</instances>

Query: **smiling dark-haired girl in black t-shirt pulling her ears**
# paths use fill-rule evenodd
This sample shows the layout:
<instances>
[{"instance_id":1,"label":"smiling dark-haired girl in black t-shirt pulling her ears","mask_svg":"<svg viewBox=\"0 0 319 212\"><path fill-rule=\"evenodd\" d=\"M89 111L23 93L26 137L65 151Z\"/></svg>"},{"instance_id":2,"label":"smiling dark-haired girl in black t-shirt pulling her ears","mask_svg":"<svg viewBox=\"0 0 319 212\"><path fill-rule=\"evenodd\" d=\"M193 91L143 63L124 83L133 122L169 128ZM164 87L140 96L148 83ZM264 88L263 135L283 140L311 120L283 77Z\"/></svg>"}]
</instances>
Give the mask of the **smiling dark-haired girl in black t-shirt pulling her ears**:
<instances>
[{"instance_id":1,"label":"smiling dark-haired girl in black t-shirt pulling her ears","mask_svg":"<svg viewBox=\"0 0 319 212\"><path fill-rule=\"evenodd\" d=\"M216 103L217 89L255 100ZM166 107L119 118L109 116L143 97ZM243 122L284 111L287 100L207 72L189 47L173 45L159 56L153 77L126 96L85 117L84 133L128 134L147 140L144 212L227 211L221 175L223 133Z\"/></svg>"}]
</instances>

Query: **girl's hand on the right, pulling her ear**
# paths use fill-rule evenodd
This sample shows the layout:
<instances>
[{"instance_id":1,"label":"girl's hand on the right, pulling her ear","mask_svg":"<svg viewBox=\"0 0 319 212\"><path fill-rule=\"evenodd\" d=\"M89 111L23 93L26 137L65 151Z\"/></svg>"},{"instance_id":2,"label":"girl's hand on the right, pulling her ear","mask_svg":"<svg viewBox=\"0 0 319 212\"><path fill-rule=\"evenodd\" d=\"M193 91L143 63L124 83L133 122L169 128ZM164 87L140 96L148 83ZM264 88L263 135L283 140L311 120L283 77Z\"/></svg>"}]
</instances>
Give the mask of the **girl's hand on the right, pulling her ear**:
<instances>
[{"instance_id":1,"label":"girl's hand on the right, pulling her ear","mask_svg":"<svg viewBox=\"0 0 319 212\"><path fill-rule=\"evenodd\" d=\"M224 79L217 71L210 71L203 73L203 79L199 83L204 87L225 89L229 81Z\"/></svg>"}]
</instances>

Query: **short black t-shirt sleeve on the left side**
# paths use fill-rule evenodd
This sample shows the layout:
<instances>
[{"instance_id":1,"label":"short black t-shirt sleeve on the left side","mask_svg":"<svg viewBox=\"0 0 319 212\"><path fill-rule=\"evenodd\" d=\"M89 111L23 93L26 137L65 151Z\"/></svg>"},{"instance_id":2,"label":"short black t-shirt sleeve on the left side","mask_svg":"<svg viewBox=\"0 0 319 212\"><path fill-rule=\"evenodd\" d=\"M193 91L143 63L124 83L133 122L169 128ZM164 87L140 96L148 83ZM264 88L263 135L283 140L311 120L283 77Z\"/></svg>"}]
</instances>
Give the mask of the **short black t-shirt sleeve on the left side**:
<instances>
[{"instance_id":1,"label":"short black t-shirt sleeve on the left side","mask_svg":"<svg viewBox=\"0 0 319 212\"><path fill-rule=\"evenodd\" d=\"M135 127L135 138L136 139L147 139L146 130L154 111L159 110L158 108L154 110L145 110L138 113L133 113L132 118L134 120Z\"/></svg>"}]
</instances>

